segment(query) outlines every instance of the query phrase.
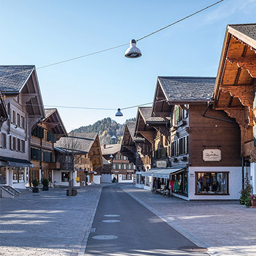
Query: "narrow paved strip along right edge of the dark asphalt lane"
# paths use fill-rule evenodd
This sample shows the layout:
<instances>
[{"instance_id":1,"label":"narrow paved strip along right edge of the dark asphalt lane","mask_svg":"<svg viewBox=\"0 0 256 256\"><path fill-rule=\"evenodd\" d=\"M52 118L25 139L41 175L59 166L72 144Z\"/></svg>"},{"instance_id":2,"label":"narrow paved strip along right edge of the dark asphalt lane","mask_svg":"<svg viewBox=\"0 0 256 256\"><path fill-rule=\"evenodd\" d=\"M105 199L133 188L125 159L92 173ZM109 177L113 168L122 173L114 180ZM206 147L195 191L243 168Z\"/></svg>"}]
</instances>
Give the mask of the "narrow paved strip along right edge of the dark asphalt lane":
<instances>
[{"instance_id":1,"label":"narrow paved strip along right edge of the dark asphalt lane","mask_svg":"<svg viewBox=\"0 0 256 256\"><path fill-rule=\"evenodd\" d=\"M128 192L125 190L125 188L122 188L125 193L127 193L129 196L131 196L132 198L134 198L137 202L139 202L141 205L143 205L144 207L146 207L149 211L153 212L154 214L156 214L156 216L158 216L159 218L161 218L161 220L163 220L164 222L166 222L168 225L170 225L170 227L174 228L175 230L177 230L180 234L182 234L184 237L188 238L190 241L192 241L193 243L195 243L197 246L199 247L204 247L204 248L210 248L211 246L209 246L209 244L205 243L204 241L202 241L200 238L194 236L193 234L191 234L190 232L188 232L187 230L185 230L184 228L180 227L179 225L177 225L177 223L175 223L172 220L169 220L168 218L166 218L166 216L164 216L163 214L161 214L160 212L156 211L154 208L150 207L149 205L145 204L143 201L141 201L139 198L137 198L136 196L132 195L132 193ZM209 255L212 256L225 256L224 254L220 253L220 252L216 252L211 250L210 252L207 252Z\"/></svg>"}]
</instances>

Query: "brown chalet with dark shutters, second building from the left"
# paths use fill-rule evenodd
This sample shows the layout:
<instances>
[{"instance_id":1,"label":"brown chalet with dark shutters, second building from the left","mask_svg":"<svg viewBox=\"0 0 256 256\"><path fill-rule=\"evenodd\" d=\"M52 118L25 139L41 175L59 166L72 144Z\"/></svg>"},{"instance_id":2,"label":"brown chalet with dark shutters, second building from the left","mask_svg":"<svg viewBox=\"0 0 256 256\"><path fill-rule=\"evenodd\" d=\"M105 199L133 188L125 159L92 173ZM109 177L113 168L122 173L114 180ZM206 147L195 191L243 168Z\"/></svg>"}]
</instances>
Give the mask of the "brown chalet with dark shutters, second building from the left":
<instances>
[{"instance_id":1,"label":"brown chalet with dark shutters, second building from the left","mask_svg":"<svg viewBox=\"0 0 256 256\"><path fill-rule=\"evenodd\" d=\"M55 161L54 143L61 137L67 137L67 131L58 109L45 109L45 118L35 125L31 132L31 163L29 184L33 179L53 182L53 170L60 169L60 162Z\"/></svg>"}]
</instances>

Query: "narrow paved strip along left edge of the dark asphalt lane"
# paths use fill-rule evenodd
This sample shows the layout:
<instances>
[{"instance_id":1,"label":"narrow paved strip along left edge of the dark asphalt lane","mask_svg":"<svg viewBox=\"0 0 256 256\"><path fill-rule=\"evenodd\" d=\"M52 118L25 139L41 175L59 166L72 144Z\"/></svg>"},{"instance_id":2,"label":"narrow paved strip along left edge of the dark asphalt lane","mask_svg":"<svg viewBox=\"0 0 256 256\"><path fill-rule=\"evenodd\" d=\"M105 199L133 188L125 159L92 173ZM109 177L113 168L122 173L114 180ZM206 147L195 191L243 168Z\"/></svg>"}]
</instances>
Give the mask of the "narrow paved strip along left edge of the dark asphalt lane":
<instances>
[{"instance_id":1,"label":"narrow paved strip along left edge of the dark asphalt lane","mask_svg":"<svg viewBox=\"0 0 256 256\"><path fill-rule=\"evenodd\" d=\"M90 235L90 230L92 228L93 219L94 219L95 213L97 211L97 206L99 204L102 188L100 188L100 191L97 195L95 203L92 206L92 209L90 210L90 213L88 215L86 222L84 223L83 231L81 232L81 234L77 240L76 247L74 248L74 251L71 253L71 256L83 256L84 255L84 252L85 252L86 246L87 246L88 237Z\"/></svg>"}]
</instances>

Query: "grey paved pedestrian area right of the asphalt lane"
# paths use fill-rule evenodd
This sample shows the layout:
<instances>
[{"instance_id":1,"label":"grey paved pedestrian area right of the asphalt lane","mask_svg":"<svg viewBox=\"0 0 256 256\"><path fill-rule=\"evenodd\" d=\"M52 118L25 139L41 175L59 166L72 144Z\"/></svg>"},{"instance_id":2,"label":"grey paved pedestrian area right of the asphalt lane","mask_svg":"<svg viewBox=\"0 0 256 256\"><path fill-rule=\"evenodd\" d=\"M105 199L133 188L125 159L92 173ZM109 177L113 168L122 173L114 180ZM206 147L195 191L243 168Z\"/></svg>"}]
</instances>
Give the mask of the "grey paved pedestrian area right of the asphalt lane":
<instances>
[{"instance_id":1,"label":"grey paved pedestrian area right of the asphalt lane","mask_svg":"<svg viewBox=\"0 0 256 256\"><path fill-rule=\"evenodd\" d=\"M132 186L124 191L210 255L256 255L256 209L236 201L192 201L155 195Z\"/></svg>"}]
</instances>

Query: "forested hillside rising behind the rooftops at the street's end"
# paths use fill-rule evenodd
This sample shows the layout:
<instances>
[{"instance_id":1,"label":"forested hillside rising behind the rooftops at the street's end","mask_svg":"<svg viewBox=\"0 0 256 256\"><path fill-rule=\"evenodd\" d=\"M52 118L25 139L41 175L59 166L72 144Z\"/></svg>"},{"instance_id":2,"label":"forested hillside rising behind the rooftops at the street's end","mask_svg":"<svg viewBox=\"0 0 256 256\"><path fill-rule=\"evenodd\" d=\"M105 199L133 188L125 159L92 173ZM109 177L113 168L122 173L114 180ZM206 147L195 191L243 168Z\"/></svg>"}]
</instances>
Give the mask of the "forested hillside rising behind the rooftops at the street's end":
<instances>
[{"instance_id":1,"label":"forested hillside rising behind the rooftops at the street's end","mask_svg":"<svg viewBox=\"0 0 256 256\"><path fill-rule=\"evenodd\" d=\"M126 120L135 121L136 118L130 118ZM93 125L87 125L74 129L71 132L86 133L86 132L98 132L100 137L100 143L103 144L115 144L121 143L122 136L124 134L125 124L118 124L110 117L104 118L95 122ZM116 140L112 140L112 136L116 136Z\"/></svg>"}]
</instances>

